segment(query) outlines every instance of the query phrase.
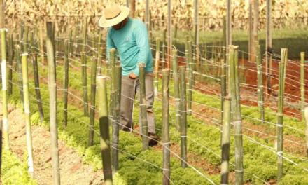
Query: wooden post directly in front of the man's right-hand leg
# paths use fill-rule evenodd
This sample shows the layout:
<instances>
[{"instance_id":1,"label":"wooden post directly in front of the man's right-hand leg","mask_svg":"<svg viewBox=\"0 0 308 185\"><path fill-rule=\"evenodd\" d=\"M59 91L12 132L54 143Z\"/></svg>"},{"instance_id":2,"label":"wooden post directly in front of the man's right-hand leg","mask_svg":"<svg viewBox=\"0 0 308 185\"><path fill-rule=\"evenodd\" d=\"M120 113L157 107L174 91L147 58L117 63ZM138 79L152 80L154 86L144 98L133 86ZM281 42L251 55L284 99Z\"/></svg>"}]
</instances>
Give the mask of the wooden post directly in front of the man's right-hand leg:
<instances>
[{"instance_id":1,"label":"wooden post directly in front of the man's right-hand leg","mask_svg":"<svg viewBox=\"0 0 308 185\"><path fill-rule=\"evenodd\" d=\"M148 149L148 120L146 117L146 64L139 64L139 81L140 81L140 114L141 114L141 134L142 134L142 149Z\"/></svg>"}]
</instances>

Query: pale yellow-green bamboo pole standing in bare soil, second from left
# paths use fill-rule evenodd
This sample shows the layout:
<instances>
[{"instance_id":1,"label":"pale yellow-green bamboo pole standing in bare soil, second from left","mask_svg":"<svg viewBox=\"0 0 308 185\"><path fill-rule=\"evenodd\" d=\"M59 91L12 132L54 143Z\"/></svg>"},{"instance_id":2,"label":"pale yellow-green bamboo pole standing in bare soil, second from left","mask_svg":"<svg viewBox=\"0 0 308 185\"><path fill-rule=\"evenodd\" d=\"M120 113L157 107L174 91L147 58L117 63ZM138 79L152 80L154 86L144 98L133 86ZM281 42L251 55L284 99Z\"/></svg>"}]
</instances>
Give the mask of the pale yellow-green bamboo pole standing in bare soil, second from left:
<instances>
[{"instance_id":1,"label":"pale yellow-green bamboo pole standing in bare soil, second from left","mask_svg":"<svg viewBox=\"0 0 308 185\"><path fill-rule=\"evenodd\" d=\"M22 54L22 83L24 92L24 109L25 109L26 135L27 135L28 172L31 178L34 179L27 55L28 55L27 53Z\"/></svg>"}]
</instances>

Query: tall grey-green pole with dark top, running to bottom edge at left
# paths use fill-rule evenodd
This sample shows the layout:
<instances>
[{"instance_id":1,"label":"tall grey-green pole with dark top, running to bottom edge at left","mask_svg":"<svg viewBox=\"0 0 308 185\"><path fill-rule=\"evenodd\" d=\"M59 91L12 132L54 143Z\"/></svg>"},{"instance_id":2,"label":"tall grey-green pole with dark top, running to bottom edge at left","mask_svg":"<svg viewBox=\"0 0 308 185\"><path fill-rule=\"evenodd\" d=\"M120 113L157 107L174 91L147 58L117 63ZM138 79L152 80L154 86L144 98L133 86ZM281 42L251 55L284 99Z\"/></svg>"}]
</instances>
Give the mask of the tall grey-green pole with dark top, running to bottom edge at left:
<instances>
[{"instance_id":1,"label":"tall grey-green pole with dark top, running to bottom edge at left","mask_svg":"<svg viewBox=\"0 0 308 185\"><path fill-rule=\"evenodd\" d=\"M52 43L52 22L47 22L47 60L48 60L48 89L49 89L49 109L50 109L50 134L51 134L51 156L52 156L52 176L53 184L60 184L59 174L59 147L57 134L57 83L55 78L55 52Z\"/></svg>"}]
</instances>

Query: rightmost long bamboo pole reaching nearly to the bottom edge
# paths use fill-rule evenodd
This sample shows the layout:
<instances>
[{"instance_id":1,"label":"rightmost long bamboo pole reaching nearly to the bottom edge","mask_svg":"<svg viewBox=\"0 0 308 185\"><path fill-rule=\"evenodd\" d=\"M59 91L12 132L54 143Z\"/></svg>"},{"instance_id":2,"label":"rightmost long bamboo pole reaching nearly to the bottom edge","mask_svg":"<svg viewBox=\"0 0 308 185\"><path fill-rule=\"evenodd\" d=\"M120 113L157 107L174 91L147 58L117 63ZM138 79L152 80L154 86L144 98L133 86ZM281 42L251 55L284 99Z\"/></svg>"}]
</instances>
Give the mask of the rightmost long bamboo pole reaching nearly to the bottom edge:
<instances>
[{"instance_id":1,"label":"rightmost long bamboo pole reaching nearly to the bottom edge","mask_svg":"<svg viewBox=\"0 0 308 185\"><path fill-rule=\"evenodd\" d=\"M279 62L279 93L277 110L277 180L283 177L283 96L286 76L286 61L288 60L288 49L281 49L281 61Z\"/></svg>"}]
</instances>

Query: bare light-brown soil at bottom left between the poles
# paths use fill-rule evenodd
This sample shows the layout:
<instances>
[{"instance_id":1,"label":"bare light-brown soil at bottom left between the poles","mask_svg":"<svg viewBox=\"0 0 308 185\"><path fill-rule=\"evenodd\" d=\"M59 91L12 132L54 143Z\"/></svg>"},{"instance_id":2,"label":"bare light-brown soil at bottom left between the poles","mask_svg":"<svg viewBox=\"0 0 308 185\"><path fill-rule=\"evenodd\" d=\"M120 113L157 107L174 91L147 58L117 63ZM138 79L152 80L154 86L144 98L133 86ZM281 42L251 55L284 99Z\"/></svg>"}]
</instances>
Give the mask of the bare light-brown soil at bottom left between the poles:
<instances>
[{"instance_id":1,"label":"bare light-brown soil at bottom left between the poles","mask_svg":"<svg viewBox=\"0 0 308 185\"><path fill-rule=\"evenodd\" d=\"M20 160L25 160L26 131L25 118L21 109L10 106L10 149ZM34 178L38 184L52 184L52 164L50 151L50 132L39 126L32 126L34 154ZM59 140L59 163L61 184L104 184L103 172L95 172L90 165L82 162L77 151Z\"/></svg>"}]
</instances>

